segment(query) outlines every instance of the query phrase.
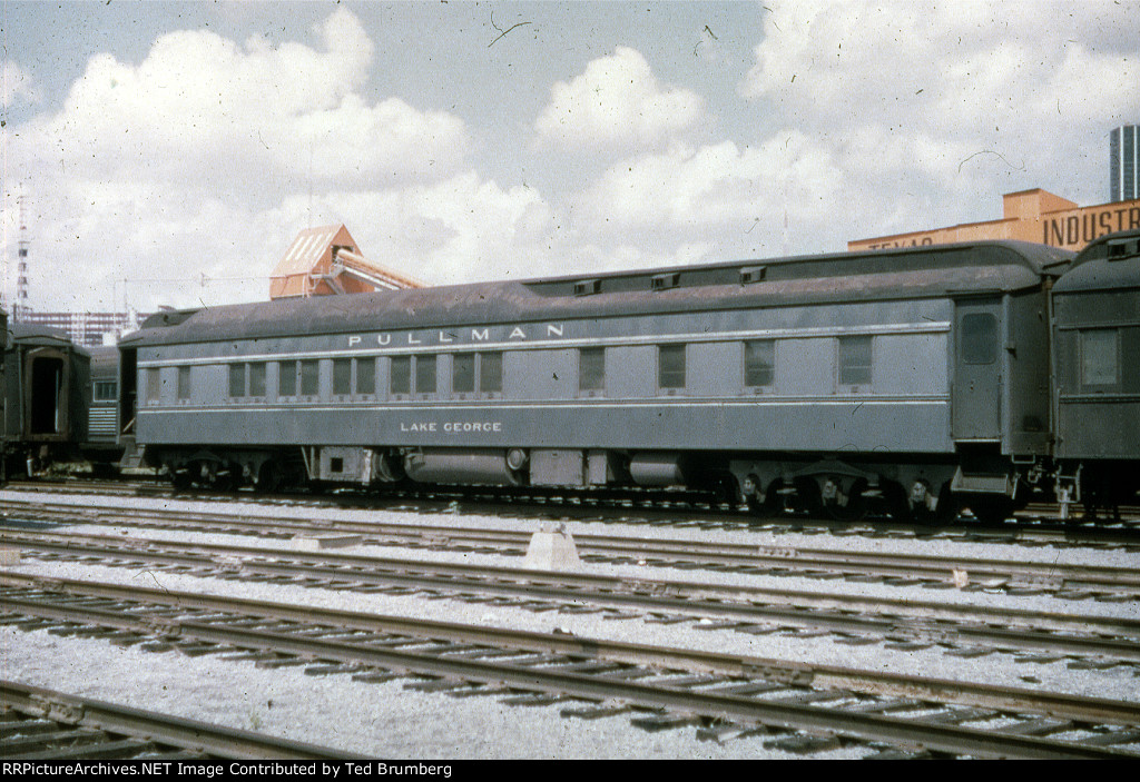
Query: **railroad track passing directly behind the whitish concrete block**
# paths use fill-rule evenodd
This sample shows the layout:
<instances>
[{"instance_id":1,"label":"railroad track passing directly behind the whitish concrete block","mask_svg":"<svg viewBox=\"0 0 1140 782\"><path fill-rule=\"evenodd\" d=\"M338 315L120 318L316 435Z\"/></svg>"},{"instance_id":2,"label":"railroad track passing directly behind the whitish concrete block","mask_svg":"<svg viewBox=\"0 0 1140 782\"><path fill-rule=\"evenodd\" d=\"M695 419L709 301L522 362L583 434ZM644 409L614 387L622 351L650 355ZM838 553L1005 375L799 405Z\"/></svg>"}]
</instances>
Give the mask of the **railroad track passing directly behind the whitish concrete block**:
<instances>
[{"instance_id":1,"label":"railroad track passing directly behind the whitish concrete block","mask_svg":"<svg viewBox=\"0 0 1140 782\"><path fill-rule=\"evenodd\" d=\"M532 530L478 528L438 524L390 524L350 519L288 519L246 512L201 513L177 507L149 508L101 505L80 508L36 501L0 502L0 517L54 524L135 525L269 537L359 536L375 545L474 550L522 555ZM1050 592L1060 598L1140 600L1140 570L1073 565L1057 561L1017 561L935 554L836 551L826 548L756 545L694 540L576 534L585 559L683 569L731 569L750 575L795 575L862 579L946 587L961 581L967 588L1019 593Z\"/></svg>"}]
</instances>

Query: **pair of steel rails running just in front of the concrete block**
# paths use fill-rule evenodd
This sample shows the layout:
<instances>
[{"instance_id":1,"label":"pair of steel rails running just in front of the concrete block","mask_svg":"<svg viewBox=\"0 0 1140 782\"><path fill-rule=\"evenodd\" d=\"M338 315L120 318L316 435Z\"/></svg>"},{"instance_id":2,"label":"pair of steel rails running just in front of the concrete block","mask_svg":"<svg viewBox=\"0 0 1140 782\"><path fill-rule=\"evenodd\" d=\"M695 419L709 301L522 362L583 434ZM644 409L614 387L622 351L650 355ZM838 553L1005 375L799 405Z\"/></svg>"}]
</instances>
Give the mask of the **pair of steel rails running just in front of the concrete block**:
<instances>
[{"instance_id":1,"label":"pair of steel rails running just in front of the concrete block","mask_svg":"<svg viewBox=\"0 0 1140 782\"><path fill-rule=\"evenodd\" d=\"M36 540L39 538L39 540ZM46 540L44 540L46 538ZM95 540L104 545L84 543ZM215 568L246 575L321 578L361 585L405 585L448 592L554 602L588 601L596 606L636 608L648 612L682 614L733 622L777 623L831 632L878 636L903 635L937 642L1016 644L1021 649L1097 655L1140 662L1140 620L1009 608L978 608L902 599L874 599L837 593L790 592L752 586L693 582L630 579L580 573L424 562L334 553L306 553L220 544L137 541L111 536L51 533L0 533L0 543L21 549L48 550L70 557L96 553L128 560L181 567ZM165 550L155 550L160 546ZM199 555L199 554L205 555ZM292 562L267 561L288 558ZM462 581L461 581L462 579ZM584 592L583 590L589 590ZM725 602L732 601L732 602ZM814 610L809 610L812 607ZM826 612L831 609L830 612ZM853 617L836 611L871 610L888 618ZM898 617L911 617L901 622ZM914 620L942 624L914 624ZM946 622L958 623L948 626ZM1007 627L994 627L1002 622ZM972 624L972 626L971 626ZM1012 629L1018 627L1020 629ZM1056 636L1044 631L1080 633ZM1112 635L1114 637L1105 637Z\"/></svg>"}]
</instances>

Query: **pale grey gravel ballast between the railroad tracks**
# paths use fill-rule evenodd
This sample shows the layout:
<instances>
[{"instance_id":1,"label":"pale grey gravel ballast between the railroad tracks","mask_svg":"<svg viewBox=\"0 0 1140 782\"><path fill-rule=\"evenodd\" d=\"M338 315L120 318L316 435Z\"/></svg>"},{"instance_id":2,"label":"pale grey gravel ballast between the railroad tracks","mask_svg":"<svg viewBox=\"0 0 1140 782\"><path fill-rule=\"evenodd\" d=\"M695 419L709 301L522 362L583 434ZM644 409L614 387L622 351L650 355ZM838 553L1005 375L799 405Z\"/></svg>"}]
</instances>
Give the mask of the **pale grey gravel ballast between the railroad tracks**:
<instances>
[{"instance_id":1,"label":"pale grey gravel ballast between the railroad tracks","mask_svg":"<svg viewBox=\"0 0 1140 782\"><path fill-rule=\"evenodd\" d=\"M10 493L0 492L0 497ZM42 496L44 502L96 503L90 497ZM121 501L117 501L121 502ZM107 500L106 504L117 504ZM197 507L203 512L238 511L267 515L264 507L227 503L184 503L140 499L132 505L177 504ZM534 520L497 519L482 516L375 511L343 511L280 508L272 512L298 518L360 518L398 522L500 528L536 528ZM755 545L852 548L879 551L952 551L960 557L1008 557L1012 546L940 540L864 538L800 535L767 530L724 532L693 528L628 526L620 524L567 522L571 534L642 535L692 537L692 540L742 541ZM56 532L93 532L148 540L207 541L212 543L280 546L290 541L266 541L247 536L199 535L170 530L138 530L127 527L76 525ZM1140 554L1076 548L1016 548L1018 558L1029 561L1096 562L1115 567L1140 567ZM339 553L384 555L432 561L520 567L518 557L355 546ZM537 632L569 632L583 637L651 643L662 647L707 649L762 658L830 666L886 670L928 677L966 680L1001 686L1036 688L1072 694L1096 695L1140 702L1140 676L1135 668L1074 669L1066 661L1018 662L1016 656L990 653L979 658L946 655L938 647L894 649L882 642L865 645L834 643L829 636L797 637L791 634L750 635L724 629L701 629L701 623L660 625L641 618L605 619L602 614L535 614L511 606L489 607L453 599L426 600L415 595L358 594L293 585L252 584L201 578L154 569L113 568L75 562L41 562L25 558L8 569L62 578L145 585L173 591L242 596L253 600L319 606L345 610L442 622L489 625ZM1140 617L1140 607L1130 602L1058 600L1047 595L1008 595L958 590L923 590L800 577L744 576L731 573L681 571L669 568L584 563L588 573L622 575L641 579L735 583L792 591L847 593L910 598L962 604L999 604L1036 611L1088 616ZM60 637L46 631L19 632L0 628L3 676L26 684L125 703L138 708L177 714L206 722L256 730L310 743L335 747L366 756L391 758L734 758L795 757L765 748L765 736L723 742L698 738L693 727L646 732L633 726L628 715L586 721L562 718L559 706L506 706L494 697L449 698L405 689L406 681L380 684L352 682L345 674L307 676L301 667L262 669L249 661L214 656L187 657L179 652L146 652L137 647L120 648L98 639ZM860 757L865 749L852 748L813 757Z\"/></svg>"}]
</instances>

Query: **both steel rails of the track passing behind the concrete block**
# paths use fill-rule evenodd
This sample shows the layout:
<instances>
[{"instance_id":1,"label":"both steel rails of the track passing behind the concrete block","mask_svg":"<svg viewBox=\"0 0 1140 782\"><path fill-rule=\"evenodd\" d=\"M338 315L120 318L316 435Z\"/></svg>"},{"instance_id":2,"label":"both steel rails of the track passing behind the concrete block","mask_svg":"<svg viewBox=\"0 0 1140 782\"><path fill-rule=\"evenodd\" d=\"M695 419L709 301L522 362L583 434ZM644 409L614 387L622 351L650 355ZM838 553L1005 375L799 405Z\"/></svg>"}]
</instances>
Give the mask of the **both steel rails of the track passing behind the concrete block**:
<instances>
[{"instance_id":1,"label":"both steel rails of the track passing behind the concrete block","mask_svg":"<svg viewBox=\"0 0 1140 782\"><path fill-rule=\"evenodd\" d=\"M360 534L378 537L399 537L426 545L455 545L470 543L489 545L507 553L502 546L524 551L532 530L446 527L441 525L405 525L389 522L360 522L347 519L295 520L280 517L252 517L247 513L186 513L176 509L132 509L100 507L78 509L74 505L19 504L11 508L0 502L0 509L42 515L44 518L65 518L71 522L112 521L125 518L150 520L156 525L169 524L163 517L178 516L179 524L221 525L228 529L249 530L254 534L312 534L335 530L340 534ZM76 519L76 512L80 518ZM982 579L996 585L1025 585L1060 588L1101 588L1140 591L1140 569L1069 565L1061 562L1027 562L970 557L939 557L931 554L896 554L889 552L834 551L805 546L772 546L748 543L714 543L692 540L646 540L577 534L575 543L584 554L620 557L642 561L654 557L674 561L698 561L741 568L775 568L777 570L825 570L845 575L876 575L895 578L918 578L948 583L954 571L961 571L975 582Z\"/></svg>"}]
</instances>

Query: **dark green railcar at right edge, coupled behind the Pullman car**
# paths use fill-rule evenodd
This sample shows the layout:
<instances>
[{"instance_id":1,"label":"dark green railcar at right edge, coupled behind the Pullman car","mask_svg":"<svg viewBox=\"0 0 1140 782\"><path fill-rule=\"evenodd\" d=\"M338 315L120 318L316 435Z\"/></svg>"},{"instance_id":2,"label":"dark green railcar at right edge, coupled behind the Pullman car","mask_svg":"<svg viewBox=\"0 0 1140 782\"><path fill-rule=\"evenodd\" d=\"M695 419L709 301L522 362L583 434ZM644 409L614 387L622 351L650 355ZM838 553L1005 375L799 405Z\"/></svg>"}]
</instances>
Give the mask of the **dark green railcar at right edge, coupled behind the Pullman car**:
<instances>
[{"instance_id":1,"label":"dark green railcar at right edge, coupled behind the Pullman car","mask_svg":"<svg viewBox=\"0 0 1140 782\"><path fill-rule=\"evenodd\" d=\"M1052 290L1058 494L1086 508L1140 492L1140 231L1081 252Z\"/></svg>"}]
</instances>

